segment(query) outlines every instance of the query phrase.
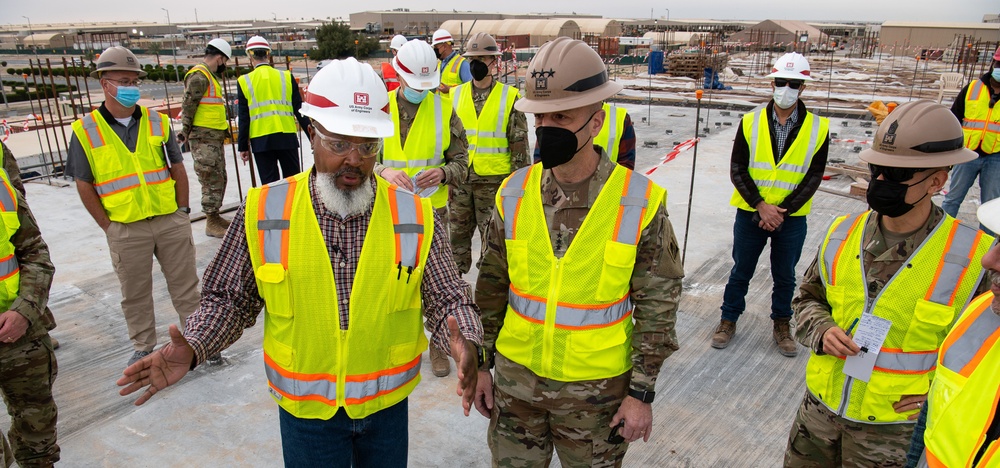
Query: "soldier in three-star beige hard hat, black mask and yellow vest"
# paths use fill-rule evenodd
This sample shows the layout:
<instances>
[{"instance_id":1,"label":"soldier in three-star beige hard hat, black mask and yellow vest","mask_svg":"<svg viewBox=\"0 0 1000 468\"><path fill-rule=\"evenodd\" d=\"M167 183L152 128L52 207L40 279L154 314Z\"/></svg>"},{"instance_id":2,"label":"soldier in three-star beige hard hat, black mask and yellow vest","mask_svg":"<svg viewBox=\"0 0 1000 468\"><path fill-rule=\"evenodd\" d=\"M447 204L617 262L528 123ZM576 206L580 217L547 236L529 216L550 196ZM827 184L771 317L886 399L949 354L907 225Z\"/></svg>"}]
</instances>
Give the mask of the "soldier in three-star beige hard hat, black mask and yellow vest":
<instances>
[{"instance_id":1,"label":"soldier in three-star beige hard hat, black mask and yellow vest","mask_svg":"<svg viewBox=\"0 0 1000 468\"><path fill-rule=\"evenodd\" d=\"M629 442L649 440L656 378L664 360L678 349L675 324L684 272L677 240L667 217L665 192L616 165L593 145L604 117L601 102L621 90L621 85L608 80L597 53L581 41L558 38L542 46L528 73L526 96L518 108L535 114L541 165L518 170L504 182L487 226L476 303L482 310L484 347L494 356L495 377L488 369L491 364L480 368L476 408L490 418L487 437L494 466L546 467L553 448L563 466L621 466ZM635 200L623 197L622 180L645 188ZM618 185L606 189L611 184ZM506 197L521 198L509 202ZM508 202L521 208L505 209ZM619 208L630 203L646 207L642 216L625 217L632 222L642 218L641 224L633 224L634 237L615 234L612 239L624 242L616 246L611 244L618 242L611 239L595 240L604 235L599 232L611 229L606 225L615 224ZM584 222L591 218L612 221ZM505 224L508 219L510 225ZM547 229L539 230L542 222ZM538 248L540 239L532 235L551 245L551 256L537 255L533 248ZM594 244L576 245L581 242ZM607 251L610 247L624 247L618 253L630 251L634 261ZM604 261L578 260L589 259L587 255ZM540 256L554 266L532 263ZM526 268L532 265L539 268ZM552 268L583 273L564 279L561 272L552 276ZM592 278L601 281L592 285ZM601 289L596 283L604 280L616 283L615 295L624 297L611 304L598 300L597 293L589 290ZM548 284L548 292L518 290L536 284ZM583 301L565 303L567 290ZM525 305L528 295L534 297ZM534 315L531 304L545 312ZM556 307L566 309L555 314ZM525 315L530 318L522 318ZM576 326L560 322L569 316L575 317ZM530 331L510 328L515 325ZM609 331L621 335L606 334ZM511 337L517 333L530 334L516 345ZM534 339L543 333L561 338ZM609 342L610 336L622 341ZM578 353L577 346L589 349ZM545 354L552 358L535 359ZM556 364L580 356L588 357L572 369ZM610 371L599 377L566 378L570 372L589 375L591 365Z\"/></svg>"}]
</instances>

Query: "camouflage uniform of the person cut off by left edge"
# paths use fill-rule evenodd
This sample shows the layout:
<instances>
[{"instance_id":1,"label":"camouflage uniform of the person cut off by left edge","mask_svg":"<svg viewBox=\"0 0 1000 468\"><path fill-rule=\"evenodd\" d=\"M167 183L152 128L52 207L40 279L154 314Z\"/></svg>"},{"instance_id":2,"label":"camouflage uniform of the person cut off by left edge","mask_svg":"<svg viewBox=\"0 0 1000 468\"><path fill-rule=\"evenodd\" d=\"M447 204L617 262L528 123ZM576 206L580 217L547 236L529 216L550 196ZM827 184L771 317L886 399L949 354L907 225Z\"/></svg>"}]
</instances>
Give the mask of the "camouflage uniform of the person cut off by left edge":
<instances>
[{"instance_id":1,"label":"camouflage uniform of the person cut off by left edge","mask_svg":"<svg viewBox=\"0 0 1000 468\"><path fill-rule=\"evenodd\" d=\"M0 442L0 466L8 466L11 457L22 467L51 466L59 461L52 399L57 367L48 334L56 322L46 304L55 267L30 208L20 193L16 195L21 226L10 241L20 267L20 283L9 309L28 320L28 329L13 343L0 343L0 392L11 417L10 445ZM4 439L2 432L0 439Z\"/></svg>"}]
</instances>

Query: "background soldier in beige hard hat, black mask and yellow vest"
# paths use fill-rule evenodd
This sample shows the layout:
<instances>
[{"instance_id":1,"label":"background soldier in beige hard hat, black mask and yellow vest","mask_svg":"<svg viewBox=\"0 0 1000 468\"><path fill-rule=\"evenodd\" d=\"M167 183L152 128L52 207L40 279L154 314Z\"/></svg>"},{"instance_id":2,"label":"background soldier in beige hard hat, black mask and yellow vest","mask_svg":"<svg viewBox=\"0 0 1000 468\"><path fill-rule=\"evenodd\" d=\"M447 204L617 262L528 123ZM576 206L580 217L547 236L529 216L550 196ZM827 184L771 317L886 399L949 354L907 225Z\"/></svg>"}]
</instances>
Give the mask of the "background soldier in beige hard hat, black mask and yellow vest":
<instances>
[{"instance_id":1,"label":"background soldier in beige hard hat, black mask and yellow vest","mask_svg":"<svg viewBox=\"0 0 1000 468\"><path fill-rule=\"evenodd\" d=\"M477 33L469 38L465 50L463 55L470 58L472 84L457 86L452 100L469 139L469 178L451 191L448 200L452 254L463 275L472 267L473 233L478 229L479 239L486 238L486 223L493 212L500 183L511 172L530 164L528 121L523 112L513 107L520 98L517 89L493 79L500 61L496 40L489 34ZM491 105L491 110L499 112L483 114L483 106L491 97L490 104L495 101L509 109ZM502 125L505 116L506 138L488 134Z\"/></svg>"}]
</instances>

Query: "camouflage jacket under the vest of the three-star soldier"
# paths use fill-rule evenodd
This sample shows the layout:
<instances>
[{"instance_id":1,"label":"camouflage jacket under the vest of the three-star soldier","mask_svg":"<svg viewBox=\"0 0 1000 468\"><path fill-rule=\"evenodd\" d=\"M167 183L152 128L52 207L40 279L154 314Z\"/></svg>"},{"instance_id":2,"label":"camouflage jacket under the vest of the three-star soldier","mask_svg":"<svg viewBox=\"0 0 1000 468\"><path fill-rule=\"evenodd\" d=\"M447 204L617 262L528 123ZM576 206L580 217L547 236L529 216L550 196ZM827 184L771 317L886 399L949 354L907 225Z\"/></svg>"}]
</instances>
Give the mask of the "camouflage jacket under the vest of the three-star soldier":
<instances>
[{"instance_id":1,"label":"camouflage jacket under the vest of the three-star soldier","mask_svg":"<svg viewBox=\"0 0 1000 468\"><path fill-rule=\"evenodd\" d=\"M600 148L595 147L600 152ZM562 187L551 170L542 173L542 204L549 237L557 257L566 253L584 218L611 176L615 163L601 155L597 170L587 180ZM507 252L503 220L496 209L490 218L483 243L482 261L476 281L476 304L482 311L483 344L495 347L507 312ZM545 272L546 274L548 272ZM632 302L635 304L632 332L632 387L653 390L663 361L678 349L677 304L681 296L684 270L673 226L667 217L666 202L639 237L635 268L632 270Z\"/></svg>"}]
</instances>

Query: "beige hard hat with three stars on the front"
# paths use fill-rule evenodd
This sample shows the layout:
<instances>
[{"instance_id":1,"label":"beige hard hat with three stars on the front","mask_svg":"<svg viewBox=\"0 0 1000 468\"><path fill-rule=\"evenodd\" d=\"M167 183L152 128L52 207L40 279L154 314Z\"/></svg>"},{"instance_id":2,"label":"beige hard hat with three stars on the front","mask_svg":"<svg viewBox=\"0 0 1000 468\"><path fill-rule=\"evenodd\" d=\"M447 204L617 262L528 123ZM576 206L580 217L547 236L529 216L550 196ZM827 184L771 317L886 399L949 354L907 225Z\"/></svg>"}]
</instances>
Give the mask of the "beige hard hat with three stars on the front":
<instances>
[{"instance_id":1,"label":"beige hard hat with three stars on the front","mask_svg":"<svg viewBox=\"0 0 1000 468\"><path fill-rule=\"evenodd\" d=\"M542 44L525 73L524 97L514 107L533 114L603 102L623 88L608 79L608 68L594 49L568 37Z\"/></svg>"}]
</instances>

